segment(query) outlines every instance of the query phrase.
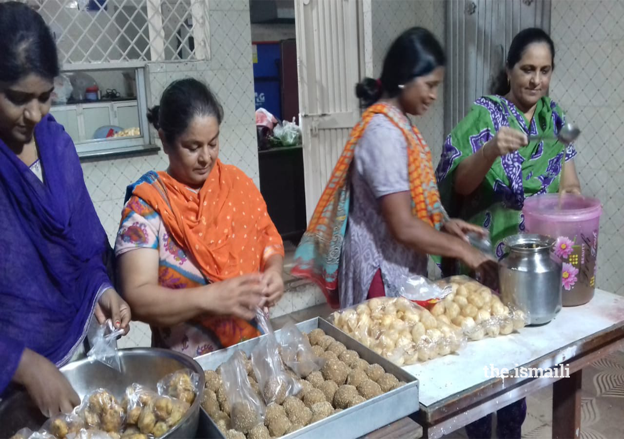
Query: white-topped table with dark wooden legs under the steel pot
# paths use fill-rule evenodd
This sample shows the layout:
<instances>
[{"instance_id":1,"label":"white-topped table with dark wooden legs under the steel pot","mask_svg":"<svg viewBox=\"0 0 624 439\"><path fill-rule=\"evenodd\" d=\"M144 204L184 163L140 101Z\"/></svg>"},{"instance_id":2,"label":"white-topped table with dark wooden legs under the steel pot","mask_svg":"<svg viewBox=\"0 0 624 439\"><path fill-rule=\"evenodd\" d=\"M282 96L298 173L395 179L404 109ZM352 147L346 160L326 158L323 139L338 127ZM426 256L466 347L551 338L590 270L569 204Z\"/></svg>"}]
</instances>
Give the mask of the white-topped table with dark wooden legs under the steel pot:
<instances>
[{"instance_id":1,"label":"white-topped table with dark wooden legs under the steel pot","mask_svg":"<svg viewBox=\"0 0 624 439\"><path fill-rule=\"evenodd\" d=\"M414 420L422 425L424 437L441 437L553 385L553 437L577 438L582 370L622 347L624 297L596 290L589 303L564 307L546 325L469 342L457 355L404 367L421 386L421 410ZM560 365L568 368L569 378L536 377L539 371L529 376L530 368L558 368L561 373ZM488 377L484 367L527 372L503 379Z\"/></svg>"}]
</instances>

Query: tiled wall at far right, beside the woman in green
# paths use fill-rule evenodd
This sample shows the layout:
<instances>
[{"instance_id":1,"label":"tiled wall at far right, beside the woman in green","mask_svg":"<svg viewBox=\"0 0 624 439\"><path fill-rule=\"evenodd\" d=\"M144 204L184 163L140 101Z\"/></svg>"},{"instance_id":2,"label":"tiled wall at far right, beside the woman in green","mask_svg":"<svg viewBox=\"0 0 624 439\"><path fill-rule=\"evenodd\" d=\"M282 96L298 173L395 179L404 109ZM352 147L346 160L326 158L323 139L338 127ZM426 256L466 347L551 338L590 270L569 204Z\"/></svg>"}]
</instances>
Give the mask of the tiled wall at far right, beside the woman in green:
<instances>
[{"instance_id":1,"label":"tiled wall at far right, beside the woman in green","mask_svg":"<svg viewBox=\"0 0 624 439\"><path fill-rule=\"evenodd\" d=\"M603 203L599 288L624 294L624 2L553 1L550 96L580 127L575 164L583 193Z\"/></svg>"}]
</instances>

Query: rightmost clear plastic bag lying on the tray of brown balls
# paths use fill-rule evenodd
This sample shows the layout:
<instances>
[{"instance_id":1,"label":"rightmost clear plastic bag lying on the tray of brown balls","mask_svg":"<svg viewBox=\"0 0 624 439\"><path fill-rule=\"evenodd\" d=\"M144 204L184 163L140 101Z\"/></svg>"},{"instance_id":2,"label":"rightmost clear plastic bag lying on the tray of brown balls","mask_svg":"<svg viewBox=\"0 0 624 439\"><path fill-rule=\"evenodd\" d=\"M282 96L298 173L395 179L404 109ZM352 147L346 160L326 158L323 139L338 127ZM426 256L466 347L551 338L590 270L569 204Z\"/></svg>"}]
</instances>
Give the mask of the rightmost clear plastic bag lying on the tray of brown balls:
<instances>
[{"instance_id":1,"label":"rightmost clear plastic bag lying on the tray of brown balls","mask_svg":"<svg viewBox=\"0 0 624 439\"><path fill-rule=\"evenodd\" d=\"M314 355L308 339L293 324L281 328L281 357L299 377L306 378L314 370L321 370L325 360Z\"/></svg>"}]
</instances>

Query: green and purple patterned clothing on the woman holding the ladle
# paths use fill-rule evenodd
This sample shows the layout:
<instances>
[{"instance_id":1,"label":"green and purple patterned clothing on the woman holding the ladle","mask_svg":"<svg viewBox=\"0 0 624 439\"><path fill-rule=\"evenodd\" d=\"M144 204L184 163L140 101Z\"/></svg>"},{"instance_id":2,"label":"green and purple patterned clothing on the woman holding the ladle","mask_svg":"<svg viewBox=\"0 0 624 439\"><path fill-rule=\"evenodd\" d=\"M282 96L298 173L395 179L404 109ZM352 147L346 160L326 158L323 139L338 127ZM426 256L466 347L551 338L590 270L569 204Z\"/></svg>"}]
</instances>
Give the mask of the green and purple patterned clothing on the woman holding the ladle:
<instances>
[{"instance_id":1,"label":"green and purple patterned clothing on the woman holding the ladle","mask_svg":"<svg viewBox=\"0 0 624 439\"><path fill-rule=\"evenodd\" d=\"M436 172L442 204L451 217L488 229L499 259L504 254L503 240L524 232L524 200L536 194L558 192L562 165L573 159L576 150L572 144L565 146L550 139L529 142L520 150L497 158L480 187L467 197L453 190L454 172L462 160L493 139L500 127L511 127L527 136L557 136L563 124L565 114L550 97L537 102L533 119L527 121L504 97L484 96L474 102L444 142Z\"/></svg>"}]
</instances>

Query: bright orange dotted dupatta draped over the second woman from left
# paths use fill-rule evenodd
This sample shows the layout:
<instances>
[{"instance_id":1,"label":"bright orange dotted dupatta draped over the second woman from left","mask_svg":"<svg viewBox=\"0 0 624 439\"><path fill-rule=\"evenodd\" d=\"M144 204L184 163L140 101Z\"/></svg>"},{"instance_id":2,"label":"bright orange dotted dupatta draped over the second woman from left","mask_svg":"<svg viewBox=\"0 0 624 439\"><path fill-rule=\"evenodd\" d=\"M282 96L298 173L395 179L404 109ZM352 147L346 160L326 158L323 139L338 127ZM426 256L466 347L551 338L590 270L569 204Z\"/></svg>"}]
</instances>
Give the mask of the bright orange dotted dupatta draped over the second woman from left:
<instances>
[{"instance_id":1,"label":"bright orange dotted dupatta draped over the second woman from left","mask_svg":"<svg viewBox=\"0 0 624 439\"><path fill-rule=\"evenodd\" d=\"M210 282L261 271L271 256L284 255L260 191L235 166L217 160L198 192L167 172L149 172L129 190L160 215ZM211 315L197 320L215 332L223 347L260 335L255 325L240 318Z\"/></svg>"}]
</instances>

